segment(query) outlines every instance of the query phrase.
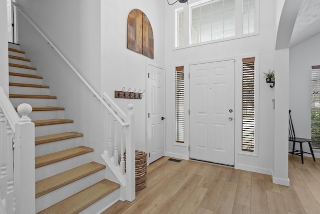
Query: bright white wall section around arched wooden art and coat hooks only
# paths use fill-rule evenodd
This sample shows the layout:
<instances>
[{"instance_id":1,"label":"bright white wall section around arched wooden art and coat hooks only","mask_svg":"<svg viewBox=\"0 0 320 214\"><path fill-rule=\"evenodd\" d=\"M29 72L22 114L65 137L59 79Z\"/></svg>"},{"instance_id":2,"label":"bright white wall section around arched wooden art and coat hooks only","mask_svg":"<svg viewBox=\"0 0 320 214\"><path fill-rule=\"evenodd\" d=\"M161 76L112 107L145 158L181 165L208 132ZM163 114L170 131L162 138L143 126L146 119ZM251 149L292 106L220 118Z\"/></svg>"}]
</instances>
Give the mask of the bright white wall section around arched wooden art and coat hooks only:
<instances>
[{"instance_id":1,"label":"bright white wall section around arched wooden art and coat hooks only","mask_svg":"<svg viewBox=\"0 0 320 214\"><path fill-rule=\"evenodd\" d=\"M142 11L152 26L154 59L126 48L127 16L132 9ZM101 89L112 98L114 90L131 88L146 91L141 100L114 99L124 112L133 104L135 148L146 151L146 65L164 66L164 3L157 0L101 1Z\"/></svg>"}]
</instances>

